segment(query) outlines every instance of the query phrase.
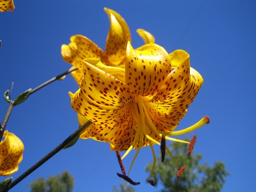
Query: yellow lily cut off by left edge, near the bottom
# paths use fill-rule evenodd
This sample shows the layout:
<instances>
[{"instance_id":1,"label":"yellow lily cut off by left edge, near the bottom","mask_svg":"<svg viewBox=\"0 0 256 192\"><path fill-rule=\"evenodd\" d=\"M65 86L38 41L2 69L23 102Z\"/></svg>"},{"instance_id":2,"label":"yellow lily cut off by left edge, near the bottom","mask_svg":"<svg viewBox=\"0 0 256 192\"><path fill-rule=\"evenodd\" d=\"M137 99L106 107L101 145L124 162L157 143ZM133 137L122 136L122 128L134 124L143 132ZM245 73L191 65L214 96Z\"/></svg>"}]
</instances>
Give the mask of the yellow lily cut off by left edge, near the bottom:
<instances>
[{"instance_id":1,"label":"yellow lily cut off by left edge, near the bottom","mask_svg":"<svg viewBox=\"0 0 256 192\"><path fill-rule=\"evenodd\" d=\"M5 140L0 143L0 176L9 176L18 171L23 158L24 145L15 134L4 132Z\"/></svg>"}]
</instances>

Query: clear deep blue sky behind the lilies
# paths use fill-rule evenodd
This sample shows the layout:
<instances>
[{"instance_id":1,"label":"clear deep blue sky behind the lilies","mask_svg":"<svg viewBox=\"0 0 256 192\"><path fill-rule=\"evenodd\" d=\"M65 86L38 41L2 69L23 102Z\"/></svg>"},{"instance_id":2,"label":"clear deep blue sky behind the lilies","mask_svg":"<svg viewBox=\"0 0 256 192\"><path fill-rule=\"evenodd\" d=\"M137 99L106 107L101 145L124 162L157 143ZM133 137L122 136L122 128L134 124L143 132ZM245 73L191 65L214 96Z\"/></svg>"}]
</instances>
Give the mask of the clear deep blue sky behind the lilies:
<instances>
[{"instance_id":1,"label":"clear deep blue sky behind the lilies","mask_svg":"<svg viewBox=\"0 0 256 192\"><path fill-rule=\"evenodd\" d=\"M72 35L84 35L105 48L109 20L103 8L107 7L128 23L133 47L144 44L136 33L143 28L167 52L183 49L190 54L191 66L203 76L204 84L177 130L208 115L211 123L194 131L194 153L203 154L203 162L210 165L225 163L231 176L223 192L255 190L255 1L16 0L15 6L13 12L0 13L0 120L8 107L3 95L12 81L12 98L16 98L69 69L60 48ZM7 129L25 145L14 179L78 128L68 95L77 89L68 75L14 108ZM158 146L155 151L159 153ZM127 169L134 152L124 160ZM141 181L136 191L160 190L145 182L148 173L144 167L151 161L150 149L141 149L130 174ZM39 176L46 178L65 170L75 177L75 192L111 191L113 185L123 182L116 176L120 168L109 144L89 139L61 151L11 191L29 191L28 184Z\"/></svg>"}]
</instances>

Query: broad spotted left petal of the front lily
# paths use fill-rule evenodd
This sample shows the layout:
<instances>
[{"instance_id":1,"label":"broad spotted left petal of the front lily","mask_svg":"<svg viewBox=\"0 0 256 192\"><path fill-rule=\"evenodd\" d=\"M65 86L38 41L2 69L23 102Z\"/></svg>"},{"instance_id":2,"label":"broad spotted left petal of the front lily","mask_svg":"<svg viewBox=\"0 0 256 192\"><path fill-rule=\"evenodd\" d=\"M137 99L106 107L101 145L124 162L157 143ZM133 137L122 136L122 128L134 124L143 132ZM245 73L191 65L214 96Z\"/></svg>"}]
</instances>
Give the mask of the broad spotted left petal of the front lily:
<instances>
[{"instance_id":1,"label":"broad spotted left petal of the front lily","mask_svg":"<svg viewBox=\"0 0 256 192\"><path fill-rule=\"evenodd\" d=\"M121 81L94 66L101 62L99 59L89 59L93 64L86 60L80 89L69 93L72 107L98 125L121 126L131 115L129 103L135 102L133 96Z\"/></svg>"}]
</instances>

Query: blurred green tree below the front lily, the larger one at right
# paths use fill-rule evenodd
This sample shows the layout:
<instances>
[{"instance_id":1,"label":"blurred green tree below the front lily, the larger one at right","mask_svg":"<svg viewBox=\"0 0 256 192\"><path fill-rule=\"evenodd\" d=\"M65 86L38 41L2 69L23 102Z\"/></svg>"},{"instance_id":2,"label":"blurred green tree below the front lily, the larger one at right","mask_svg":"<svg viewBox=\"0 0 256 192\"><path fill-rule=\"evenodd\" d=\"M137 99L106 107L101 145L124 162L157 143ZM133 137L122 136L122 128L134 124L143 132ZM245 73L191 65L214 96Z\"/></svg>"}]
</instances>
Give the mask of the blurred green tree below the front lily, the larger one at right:
<instances>
[{"instance_id":1,"label":"blurred green tree below the front lily, the larger one at right","mask_svg":"<svg viewBox=\"0 0 256 192\"><path fill-rule=\"evenodd\" d=\"M186 140L189 140L186 138ZM213 167L208 163L200 164L203 155L193 153L187 156L187 145L173 142L171 144L172 155L179 165L186 165L186 170L177 178L178 168L171 157L166 154L164 163L161 157L157 158L153 172L153 180L157 185L159 180L163 185L162 192L219 192L224 185L229 172L222 162L215 162ZM152 163L146 166L150 173Z\"/></svg>"}]
</instances>

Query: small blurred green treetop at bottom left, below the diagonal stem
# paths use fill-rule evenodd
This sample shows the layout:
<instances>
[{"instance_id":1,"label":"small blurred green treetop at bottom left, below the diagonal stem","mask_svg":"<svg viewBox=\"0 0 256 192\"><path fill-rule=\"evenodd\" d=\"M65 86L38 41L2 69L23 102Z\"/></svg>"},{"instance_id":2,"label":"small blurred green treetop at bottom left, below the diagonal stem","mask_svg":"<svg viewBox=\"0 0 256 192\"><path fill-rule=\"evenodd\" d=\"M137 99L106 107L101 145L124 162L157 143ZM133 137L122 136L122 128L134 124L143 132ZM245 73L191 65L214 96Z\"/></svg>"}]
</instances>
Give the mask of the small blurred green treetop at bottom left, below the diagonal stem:
<instances>
[{"instance_id":1,"label":"small blurred green treetop at bottom left, below the diagonal stem","mask_svg":"<svg viewBox=\"0 0 256 192\"><path fill-rule=\"evenodd\" d=\"M61 175L50 176L46 180L40 177L29 186L31 192L71 192L74 188L74 178L68 171L64 171Z\"/></svg>"}]
</instances>

